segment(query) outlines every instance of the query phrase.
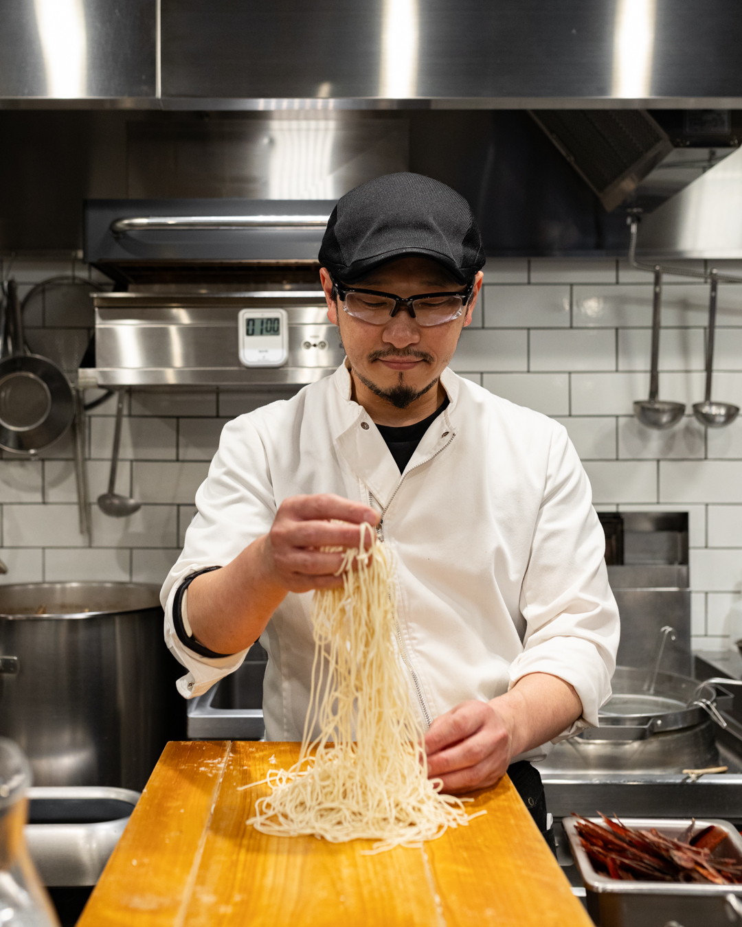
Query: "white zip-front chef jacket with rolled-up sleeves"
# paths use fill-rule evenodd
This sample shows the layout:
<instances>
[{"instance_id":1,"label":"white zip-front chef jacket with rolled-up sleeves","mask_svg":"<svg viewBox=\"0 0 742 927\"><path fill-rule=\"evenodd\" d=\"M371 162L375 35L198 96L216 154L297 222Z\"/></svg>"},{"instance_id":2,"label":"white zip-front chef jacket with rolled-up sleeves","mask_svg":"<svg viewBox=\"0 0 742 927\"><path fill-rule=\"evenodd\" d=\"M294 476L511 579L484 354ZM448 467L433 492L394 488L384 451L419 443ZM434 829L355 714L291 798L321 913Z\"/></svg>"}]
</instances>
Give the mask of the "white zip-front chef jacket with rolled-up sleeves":
<instances>
[{"instance_id":1,"label":"white zip-front chef jacket with rolled-up sleeves","mask_svg":"<svg viewBox=\"0 0 742 927\"><path fill-rule=\"evenodd\" d=\"M288 496L370 502L396 558L401 657L421 721L489 700L528 673L571 683L597 725L610 695L619 615L590 483L562 425L443 371L450 404L400 475L351 377L334 375L224 425L198 513L162 587L165 640L188 673L186 698L240 666L207 658L173 629L175 591L226 565L271 527ZM312 593L289 592L262 633L268 740L301 740L313 660ZM518 758L543 758L548 747Z\"/></svg>"}]
</instances>

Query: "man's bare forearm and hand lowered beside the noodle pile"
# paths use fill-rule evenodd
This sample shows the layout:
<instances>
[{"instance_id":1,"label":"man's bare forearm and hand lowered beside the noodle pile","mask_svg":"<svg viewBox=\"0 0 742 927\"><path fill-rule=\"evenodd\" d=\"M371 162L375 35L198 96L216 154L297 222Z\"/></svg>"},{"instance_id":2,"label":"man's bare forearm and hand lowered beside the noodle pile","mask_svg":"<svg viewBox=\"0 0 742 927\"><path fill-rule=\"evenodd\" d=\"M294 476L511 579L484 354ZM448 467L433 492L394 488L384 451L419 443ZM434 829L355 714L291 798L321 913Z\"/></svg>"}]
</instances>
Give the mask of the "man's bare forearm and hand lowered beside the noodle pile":
<instances>
[{"instance_id":1,"label":"man's bare forearm and hand lowered beside the noodle pile","mask_svg":"<svg viewBox=\"0 0 742 927\"><path fill-rule=\"evenodd\" d=\"M443 792L493 785L514 756L547 743L582 715L574 688L549 673L529 673L490 702L462 702L425 735L428 774Z\"/></svg>"}]
</instances>

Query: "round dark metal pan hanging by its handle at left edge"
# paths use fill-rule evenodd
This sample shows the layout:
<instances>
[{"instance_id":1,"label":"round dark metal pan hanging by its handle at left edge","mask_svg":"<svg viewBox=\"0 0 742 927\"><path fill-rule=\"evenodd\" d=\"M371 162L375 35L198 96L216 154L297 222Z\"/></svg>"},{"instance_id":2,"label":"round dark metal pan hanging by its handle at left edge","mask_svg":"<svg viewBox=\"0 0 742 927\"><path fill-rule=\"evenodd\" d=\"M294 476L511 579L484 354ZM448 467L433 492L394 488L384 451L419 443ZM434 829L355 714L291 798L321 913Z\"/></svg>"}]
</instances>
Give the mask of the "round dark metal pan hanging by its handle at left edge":
<instances>
[{"instance_id":1,"label":"round dark metal pan hanging by its handle at left edge","mask_svg":"<svg viewBox=\"0 0 742 927\"><path fill-rule=\"evenodd\" d=\"M0 448L35 454L70 427L72 387L56 363L26 353L15 280L6 283L5 308L11 354L0 360Z\"/></svg>"}]
</instances>

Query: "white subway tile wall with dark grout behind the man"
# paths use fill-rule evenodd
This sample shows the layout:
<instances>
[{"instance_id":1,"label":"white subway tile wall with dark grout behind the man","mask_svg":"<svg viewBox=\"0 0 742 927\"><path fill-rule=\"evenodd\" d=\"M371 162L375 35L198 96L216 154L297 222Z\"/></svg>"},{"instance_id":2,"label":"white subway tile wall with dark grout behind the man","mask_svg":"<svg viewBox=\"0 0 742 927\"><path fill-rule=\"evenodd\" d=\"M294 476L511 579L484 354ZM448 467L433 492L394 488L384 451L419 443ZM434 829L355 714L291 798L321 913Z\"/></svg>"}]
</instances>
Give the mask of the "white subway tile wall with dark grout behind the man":
<instances>
[{"instance_id":1,"label":"white subway tile wall with dark grout behind the man","mask_svg":"<svg viewBox=\"0 0 742 927\"><path fill-rule=\"evenodd\" d=\"M694 266L702 266L694 262ZM80 261L4 263L21 298L59 274L98 279ZM740 272L742 268L729 268ZM452 366L480 386L564 425L599 511L681 511L690 518L693 641L725 645L742 596L742 420L708 432L691 415L703 398L708 286L666 278L660 397L687 414L667 432L633 418L649 388L652 276L619 260L489 260L480 302ZM26 308L29 341L65 362L93 324L80 298L47 289ZM84 296L84 298L83 298ZM720 286L714 398L742 405L742 286ZM0 582L133 579L159 583L178 555L224 423L294 389L134 390L127 398L118 491L143 502L114 519L92 505L80 533L70 438L41 460L0 461ZM89 390L86 400L100 395ZM107 489L115 403L88 416L91 498Z\"/></svg>"}]
</instances>

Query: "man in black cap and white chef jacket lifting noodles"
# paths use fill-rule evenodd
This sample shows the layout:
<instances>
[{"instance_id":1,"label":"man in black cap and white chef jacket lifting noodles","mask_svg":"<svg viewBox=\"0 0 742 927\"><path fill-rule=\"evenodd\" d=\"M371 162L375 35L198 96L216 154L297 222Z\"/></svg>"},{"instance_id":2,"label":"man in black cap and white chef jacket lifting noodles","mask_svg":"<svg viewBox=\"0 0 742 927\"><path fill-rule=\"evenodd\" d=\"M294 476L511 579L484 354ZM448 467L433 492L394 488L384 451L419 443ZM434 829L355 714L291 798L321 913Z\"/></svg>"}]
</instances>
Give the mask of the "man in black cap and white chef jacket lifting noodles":
<instances>
[{"instance_id":1,"label":"man in black cap and white chef jacket lifting noodles","mask_svg":"<svg viewBox=\"0 0 742 927\"><path fill-rule=\"evenodd\" d=\"M322 548L368 522L396 554L430 775L461 792L509 768L545 831L528 761L597 724L619 640L587 477L561 425L448 367L484 263L463 197L377 178L339 200L319 258L347 360L225 425L162 589L179 689L205 692L260 638L266 736L301 740L311 592L340 585Z\"/></svg>"}]
</instances>

